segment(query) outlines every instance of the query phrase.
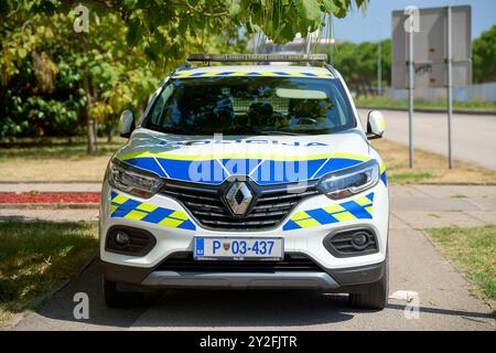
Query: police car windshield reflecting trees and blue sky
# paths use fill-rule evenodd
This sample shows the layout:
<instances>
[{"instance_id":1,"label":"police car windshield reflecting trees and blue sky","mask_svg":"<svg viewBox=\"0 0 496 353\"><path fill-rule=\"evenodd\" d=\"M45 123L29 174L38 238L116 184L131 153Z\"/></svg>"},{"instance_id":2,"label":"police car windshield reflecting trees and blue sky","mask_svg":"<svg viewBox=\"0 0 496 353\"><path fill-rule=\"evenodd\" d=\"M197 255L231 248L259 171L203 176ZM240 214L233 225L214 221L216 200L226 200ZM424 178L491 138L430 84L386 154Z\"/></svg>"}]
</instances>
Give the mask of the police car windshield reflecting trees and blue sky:
<instances>
[{"instance_id":1,"label":"police car windshield reflecting trees and blue sky","mask_svg":"<svg viewBox=\"0 0 496 353\"><path fill-rule=\"evenodd\" d=\"M173 78L143 127L177 135L333 133L355 127L337 79L235 76Z\"/></svg>"}]
</instances>

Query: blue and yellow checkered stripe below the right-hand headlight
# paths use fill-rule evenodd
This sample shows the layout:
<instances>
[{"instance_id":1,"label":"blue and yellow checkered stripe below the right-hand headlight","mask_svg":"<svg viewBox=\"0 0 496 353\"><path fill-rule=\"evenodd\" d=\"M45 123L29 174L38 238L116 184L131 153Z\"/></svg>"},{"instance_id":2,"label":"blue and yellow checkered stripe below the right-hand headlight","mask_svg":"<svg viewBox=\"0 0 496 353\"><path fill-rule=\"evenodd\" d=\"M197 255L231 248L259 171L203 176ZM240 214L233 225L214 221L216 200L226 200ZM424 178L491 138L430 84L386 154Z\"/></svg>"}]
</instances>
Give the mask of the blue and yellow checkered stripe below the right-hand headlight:
<instances>
[{"instance_id":1,"label":"blue and yellow checkered stripe below the right-hand headlight","mask_svg":"<svg viewBox=\"0 0 496 353\"><path fill-rule=\"evenodd\" d=\"M293 231L315 227L339 222L356 220L371 220L374 205L374 193L358 197L353 201L296 212L282 227L282 231Z\"/></svg>"}]
</instances>

